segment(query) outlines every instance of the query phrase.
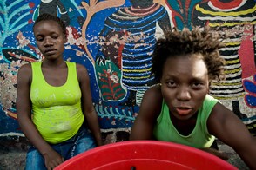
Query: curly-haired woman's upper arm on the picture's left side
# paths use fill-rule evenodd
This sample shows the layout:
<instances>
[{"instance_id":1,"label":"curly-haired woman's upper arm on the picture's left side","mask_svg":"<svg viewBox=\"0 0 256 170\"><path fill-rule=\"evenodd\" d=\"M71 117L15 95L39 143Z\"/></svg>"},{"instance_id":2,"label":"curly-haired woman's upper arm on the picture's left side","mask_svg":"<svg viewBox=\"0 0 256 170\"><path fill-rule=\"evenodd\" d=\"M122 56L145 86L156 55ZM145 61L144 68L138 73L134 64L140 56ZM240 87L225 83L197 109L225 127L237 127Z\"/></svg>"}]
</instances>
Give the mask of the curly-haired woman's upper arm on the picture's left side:
<instances>
[{"instance_id":1,"label":"curly-haired woman's upper arm on the picture's left side","mask_svg":"<svg viewBox=\"0 0 256 170\"><path fill-rule=\"evenodd\" d=\"M145 92L138 116L131 127L130 140L153 140L153 129L161 112L162 100L158 85Z\"/></svg>"}]
</instances>

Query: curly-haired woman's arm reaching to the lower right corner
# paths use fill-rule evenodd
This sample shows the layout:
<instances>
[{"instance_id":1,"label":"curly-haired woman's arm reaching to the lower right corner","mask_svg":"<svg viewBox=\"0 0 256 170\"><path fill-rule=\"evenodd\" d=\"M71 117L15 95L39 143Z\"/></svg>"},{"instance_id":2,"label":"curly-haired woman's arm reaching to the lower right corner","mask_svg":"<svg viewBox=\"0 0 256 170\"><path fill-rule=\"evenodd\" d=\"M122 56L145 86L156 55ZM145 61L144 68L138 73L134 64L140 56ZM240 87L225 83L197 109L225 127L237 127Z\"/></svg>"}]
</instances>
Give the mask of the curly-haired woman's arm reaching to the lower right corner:
<instances>
[{"instance_id":1,"label":"curly-haired woman's arm reaching to the lower right corner","mask_svg":"<svg viewBox=\"0 0 256 170\"><path fill-rule=\"evenodd\" d=\"M210 134L232 147L248 167L256 169L256 138L231 110L217 103L207 127Z\"/></svg>"}]
</instances>

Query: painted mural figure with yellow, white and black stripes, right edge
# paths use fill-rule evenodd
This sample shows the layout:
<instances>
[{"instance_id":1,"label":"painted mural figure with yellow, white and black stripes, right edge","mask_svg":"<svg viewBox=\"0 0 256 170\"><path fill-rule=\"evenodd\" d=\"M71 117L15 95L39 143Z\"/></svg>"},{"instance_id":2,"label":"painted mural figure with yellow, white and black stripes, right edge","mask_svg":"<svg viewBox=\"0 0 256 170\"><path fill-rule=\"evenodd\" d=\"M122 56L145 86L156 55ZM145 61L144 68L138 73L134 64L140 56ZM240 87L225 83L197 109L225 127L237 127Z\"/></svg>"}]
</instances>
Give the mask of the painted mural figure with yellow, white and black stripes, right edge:
<instances>
[{"instance_id":1,"label":"painted mural figure with yellow, white and black stripes, right edge","mask_svg":"<svg viewBox=\"0 0 256 170\"><path fill-rule=\"evenodd\" d=\"M250 120L248 120L248 116L255 116L255 112L254 114L251 113L251 109L243 109L242 111L241 107L245 103L245 99L251 96L246 95L246 84L244 88L242 78L252 78L256 71L254 63L255 49L253 50L255 11L256 4L253 0L225 2L210 0L205 3L198 3L192 13L192 23L194 25L209 25L220 36L225 36L223 42L226 43L226 47L220 49L219 52L226 60L226 80L212 82L210 93L220 101L231 103L234 114L244 121ZM251 41L246 42L245 40L248 38ZM246 45L242 43L246 43ZM246 49L241 49L241 47L252 48L247 49L248 51L245 53ZM244 60L248 62L246 67L245 65L242 66ZM248 104L246 106L251 107Z\"/></svg>"}]
</instances>

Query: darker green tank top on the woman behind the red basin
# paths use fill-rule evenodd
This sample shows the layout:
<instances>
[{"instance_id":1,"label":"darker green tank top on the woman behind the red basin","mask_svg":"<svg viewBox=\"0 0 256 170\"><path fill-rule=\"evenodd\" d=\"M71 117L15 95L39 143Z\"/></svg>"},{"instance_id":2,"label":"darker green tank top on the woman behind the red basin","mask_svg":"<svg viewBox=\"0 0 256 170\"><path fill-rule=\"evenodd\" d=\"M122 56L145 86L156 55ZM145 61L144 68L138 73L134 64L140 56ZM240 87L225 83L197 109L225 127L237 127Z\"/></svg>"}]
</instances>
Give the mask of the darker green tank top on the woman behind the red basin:
<instances>
[{"instance_id":1,"label":"darker green tank top on the woman behind the red basin","mask_svg":"<svg viewBox=\"0 0 256 170\"><path fill-rule=\"evenodd\" d=\"M211 147L215 137L209 134L207 129L207 120L212 112L212 108L218 100L210 95L205 96L203 106L199 108L196 125L189 135L179 134L179 131L172 124L169 108L163 100L162 111L158 116L156 126L154 127L154 137L158 141L172 141L190 147L202 148Z\"/></svg>"}]
</instances>

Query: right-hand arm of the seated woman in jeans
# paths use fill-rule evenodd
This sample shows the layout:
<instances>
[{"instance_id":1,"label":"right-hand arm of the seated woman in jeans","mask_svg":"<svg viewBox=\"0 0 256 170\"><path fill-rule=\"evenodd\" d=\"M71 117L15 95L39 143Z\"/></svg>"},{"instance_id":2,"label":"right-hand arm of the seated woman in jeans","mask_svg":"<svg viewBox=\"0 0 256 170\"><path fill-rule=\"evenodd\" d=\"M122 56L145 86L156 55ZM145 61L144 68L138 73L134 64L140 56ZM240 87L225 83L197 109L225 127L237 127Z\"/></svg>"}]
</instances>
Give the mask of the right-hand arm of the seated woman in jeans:
<instances>
[{"instance_id":1,"label":"right-hand arm of the seated woman in jeans","mask_svg":"<svg viewBox=\"0 0 256 170\"><path fill-rule=\"evenodd\" d=\"M77 77L82 91L82 108L87 124L93 134L97 145L103 145L100 128L98 124L98 116L91 99L90 77L84 66L77 64Z\"/></svg>"}]
</instances>

